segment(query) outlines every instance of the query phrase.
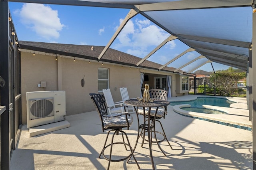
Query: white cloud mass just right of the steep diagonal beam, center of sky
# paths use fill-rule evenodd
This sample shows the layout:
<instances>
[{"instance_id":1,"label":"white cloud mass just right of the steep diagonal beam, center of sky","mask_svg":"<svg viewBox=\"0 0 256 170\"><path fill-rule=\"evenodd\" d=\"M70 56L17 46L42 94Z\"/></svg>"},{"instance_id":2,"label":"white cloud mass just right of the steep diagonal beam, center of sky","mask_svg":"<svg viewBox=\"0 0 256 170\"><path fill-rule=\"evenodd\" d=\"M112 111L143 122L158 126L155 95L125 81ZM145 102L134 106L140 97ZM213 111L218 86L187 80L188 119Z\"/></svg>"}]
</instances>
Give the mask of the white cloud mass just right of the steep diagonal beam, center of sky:
<instances>
[{"instance_id":1,"label":"white cloud mass just right of the steep diagonal beam, center of sky","mask_svg":"<svg viewBox=\"0 0 256 170\"><path fill-rule=\"evenodd\" d=\"M123 19L120 19L120 24L122 21ZM134 22L129 20L117 37L119 43L116 43L114 47L116 49L126 47L128 48L126 53L144 57L151 51L148 51L149 47L154 49L169 36L169 33L153 25L149 20L136 19ZM175 42L167 44L170 49L176 47Z\"/></svg>"}]
</instances>

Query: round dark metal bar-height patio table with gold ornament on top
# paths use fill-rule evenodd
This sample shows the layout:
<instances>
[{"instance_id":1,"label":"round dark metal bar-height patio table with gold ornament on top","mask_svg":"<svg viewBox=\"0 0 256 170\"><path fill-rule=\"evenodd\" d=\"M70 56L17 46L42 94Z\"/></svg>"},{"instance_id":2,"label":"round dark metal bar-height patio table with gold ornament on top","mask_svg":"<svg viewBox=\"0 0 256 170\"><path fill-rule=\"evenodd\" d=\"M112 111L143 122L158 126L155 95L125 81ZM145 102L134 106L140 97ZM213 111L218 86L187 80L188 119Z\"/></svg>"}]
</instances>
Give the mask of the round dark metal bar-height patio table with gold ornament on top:
<instances>
[{"instance_id":1,"label":"round dark metal bar-height patio table with gold ornament on top","mask_svg":"<svg viewBox=\"0 0 256 170\"><path fill-rule=\"evenodd\" d=\"M143 130L147 130L148 131L148 145L149 145L149 151L150 151L150 159L151 159L152 168L153 168L153 170L155 170L154 160L153 160L153 155L152 155L152 136L151 136L150 131L152 130L152 128L154 128L158 107L167 106L170 104L170 102L166 101L166 100L161 100L161 99L155 99L153 102L143 102L143 101L138 101L138 99L129 99L129 100L124 101L124 103L126 105L133 106L134 110L137 113L136 115L137 115L137 119L138 119L138 136L137 136L136 144L134 146L133 151L135 150L137 143L138 143L140 128L142 128ZM143 108L143 123L141 125L139 123L139 118L138 118L138 110L137 110L138 107ZM145 108L148 108L148 115L149 115L152 107L156 108L154 119L153 119L153 121L150 121L148 118L148 121L146 121L147 115L145 114ZM144 133L144 136L145 136L145 133ZM158 142L156 142L156 143L158 144ZM160 148L159 144L158 144L158 147ZM162 149L161 149L161 151L162 151Z\"/></svg>"}]
</instances>

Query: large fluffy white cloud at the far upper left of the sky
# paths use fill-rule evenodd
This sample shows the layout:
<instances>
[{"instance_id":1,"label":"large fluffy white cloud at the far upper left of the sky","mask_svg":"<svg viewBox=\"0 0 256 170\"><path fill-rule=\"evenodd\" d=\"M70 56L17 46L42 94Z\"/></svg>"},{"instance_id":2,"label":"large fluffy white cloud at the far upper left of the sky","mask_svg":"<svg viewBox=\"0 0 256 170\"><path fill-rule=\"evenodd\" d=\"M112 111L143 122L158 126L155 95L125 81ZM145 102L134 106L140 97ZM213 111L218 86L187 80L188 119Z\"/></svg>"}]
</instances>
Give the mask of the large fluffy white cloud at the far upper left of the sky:
<instances>
[{"instance_id":1,"label":"large fluffy white cloud at the far upper left of the sky","mask_svg":"<svg viewBox=\"0 0 256 170\"><path fill-rule=\"evenodd\" d=\"M58 11L43 4L24 4L18 14L25 26L46 39L59 38L59 32L64 27L58 18Z\"/></svg>"}]
</instances>

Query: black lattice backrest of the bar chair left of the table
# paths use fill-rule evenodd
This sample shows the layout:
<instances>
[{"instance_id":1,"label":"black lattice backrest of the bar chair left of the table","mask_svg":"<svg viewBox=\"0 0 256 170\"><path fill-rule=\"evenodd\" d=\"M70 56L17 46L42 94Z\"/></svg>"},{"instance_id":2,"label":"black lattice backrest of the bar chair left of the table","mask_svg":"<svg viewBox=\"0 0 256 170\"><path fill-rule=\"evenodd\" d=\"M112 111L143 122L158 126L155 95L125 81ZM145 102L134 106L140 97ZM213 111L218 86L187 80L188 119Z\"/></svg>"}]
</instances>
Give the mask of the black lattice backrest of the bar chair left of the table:
<instances>
[{"instance_id":1,"label":"black lattice backrest of the bar chair left of the table","mask_svg":"<svg viewBox=\"0 0 256 170\"><path fill-rule=\"evenodd\" d=\"M103 125L103 117L102 115L108 115L108 112L107 112L107 108L106 108L106 105L101 97L100 94L96 94L96 93L90 93L89 94L93 103L94 103L94 106L96 108L96 111L98 112L99 116L100 116L100 119L101 119L101 125L102 125L102 131L104 132L104 125Z\"/></svg>"}]
</instances>

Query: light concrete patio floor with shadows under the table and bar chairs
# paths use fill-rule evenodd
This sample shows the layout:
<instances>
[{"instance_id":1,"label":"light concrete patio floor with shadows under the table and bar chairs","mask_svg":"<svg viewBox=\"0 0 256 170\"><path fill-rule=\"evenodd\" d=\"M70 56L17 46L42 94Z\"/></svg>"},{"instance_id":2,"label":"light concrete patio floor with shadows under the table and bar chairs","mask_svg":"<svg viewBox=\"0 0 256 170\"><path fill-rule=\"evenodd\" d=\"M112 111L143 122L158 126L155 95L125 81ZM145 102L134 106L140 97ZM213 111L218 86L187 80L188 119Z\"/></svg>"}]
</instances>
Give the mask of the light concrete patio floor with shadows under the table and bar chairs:
<instances>
[{"instance_id":1,"label":"light concrete patio floor with shadows under the table and bar chairs","mask_svg":"<svg viewBox=\"0 0 256 170\"><path fill-rule=\"evenodd\" d=\"M188 99L194 95L176 97L178 100ZM172 98L175 100L175 97ZM228 119L248 120L248 110L244 103L246 99L234 98L240 103L231 109ZM245 101L245 102L244 102ZM92 104L92 107L93 104ZM241 109L237 109L241 108ZM243 115L240 113L243 111ZM247 114L247 115L246 115ZM132 147L137 136L137 119L128 134ZM207 114L208 115L208 114ZM212 115L211 115L212 116ZM142 122L142 116L139 116ZM66 116L70 127L29 137L26 125L22 126L16 150L10 162L11 170L103 170L108 167L108 161L101 156L107 132L102 132L100 119L96 111ZM236 121L236 120L234 120ZM166 119L161 119L166 136L173 147L171 150L166 141L161 143L166 152L164 156L156 144L152 145L156 169L170 170L251 170L252 169L252 132L249 130L228 127L208 121L185 117L173 111L168 106ZM248 121L247 123L250 124ZM158 124L156 124L158 125ZM159 127L156 127L159 129ZM115 140L120 140L121 135ZM149 157L148 143L136 147L134 155L141 169L152 169ZM114 155L127 155L123 145L116 145ZM108 149L106 150L108 155ZM111 162L110 169L138 169L131 158L129 163Z\"/></svg>"}]
</instances>

